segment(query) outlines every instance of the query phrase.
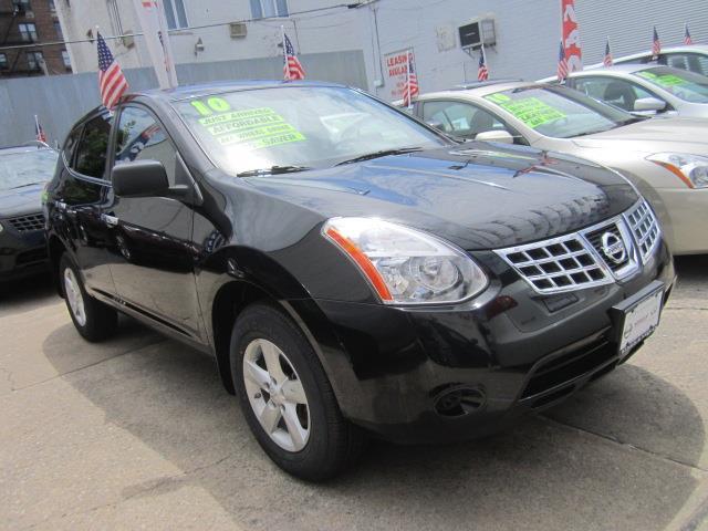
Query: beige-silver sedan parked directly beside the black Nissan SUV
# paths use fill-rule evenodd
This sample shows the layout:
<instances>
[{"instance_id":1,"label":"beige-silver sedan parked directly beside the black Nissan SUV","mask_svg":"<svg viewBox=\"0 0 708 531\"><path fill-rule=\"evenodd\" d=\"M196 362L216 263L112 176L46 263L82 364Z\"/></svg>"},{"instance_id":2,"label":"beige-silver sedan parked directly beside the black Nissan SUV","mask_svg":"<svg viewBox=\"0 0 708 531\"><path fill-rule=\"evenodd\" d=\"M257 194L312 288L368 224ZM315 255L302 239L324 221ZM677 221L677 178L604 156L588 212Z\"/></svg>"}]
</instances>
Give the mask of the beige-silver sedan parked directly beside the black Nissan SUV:
<instances>
[{"instance_id":1,"label":"beige-silver sedan parked directly beside the black Nissan SUV","mask_svg":"<svg viewBox=\"0 0 708 531\"><path fill-rule=\"evenodd\" d=\"M412 112L461 139L562 152L614 168L649 198L675 254L708 252L705 119L647 119L577 91L528 82L425 94Z\"/></svg>"}]
</instances>

